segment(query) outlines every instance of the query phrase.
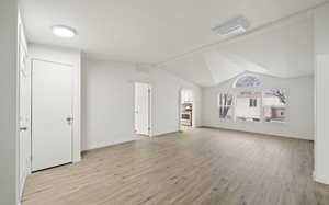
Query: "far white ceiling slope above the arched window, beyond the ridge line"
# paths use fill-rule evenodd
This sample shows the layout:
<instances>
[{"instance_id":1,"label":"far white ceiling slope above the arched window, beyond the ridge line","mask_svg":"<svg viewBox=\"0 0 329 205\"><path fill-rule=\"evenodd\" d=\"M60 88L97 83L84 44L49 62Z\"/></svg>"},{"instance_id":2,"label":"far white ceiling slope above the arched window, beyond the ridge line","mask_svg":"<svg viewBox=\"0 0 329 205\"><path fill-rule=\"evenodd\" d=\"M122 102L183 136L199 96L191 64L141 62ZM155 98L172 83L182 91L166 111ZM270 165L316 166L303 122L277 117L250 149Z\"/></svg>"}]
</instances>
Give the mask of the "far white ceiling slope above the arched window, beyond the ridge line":
<instances>
[{"instance_id":1,"label":"far white ceiling slope above the arched window, beyond the ridge line","mask_svg":"<svg viewBox=\"0 0 329 205\"><path fill-rule=\"evenodd\" d=\"M311 75L313 13L290 18L160 67L203 87L220 83L245 71L281 78Z\"/></svg>"}]
</instances>

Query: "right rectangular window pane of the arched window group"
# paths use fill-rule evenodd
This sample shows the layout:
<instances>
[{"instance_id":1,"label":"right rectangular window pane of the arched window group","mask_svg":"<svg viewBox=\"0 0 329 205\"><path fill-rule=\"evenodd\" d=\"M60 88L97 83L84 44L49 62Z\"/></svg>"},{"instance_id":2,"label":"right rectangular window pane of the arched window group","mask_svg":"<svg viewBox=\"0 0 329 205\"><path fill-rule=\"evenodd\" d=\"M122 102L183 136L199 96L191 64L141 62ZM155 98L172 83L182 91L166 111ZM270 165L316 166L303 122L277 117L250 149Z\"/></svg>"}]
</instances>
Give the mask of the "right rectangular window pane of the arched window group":
<instances>
[{"instance_id":1,"label":"right rectangular window pane of the arched window group","mask_svg":"<svg viewBox=\"0 0 329 205\"><path fill-rule=\"evenodd\" d=\"M263 113L265 122L285 122L286 95L283 89L269 89L263 91Z\"/></svg>"}]
</instances>

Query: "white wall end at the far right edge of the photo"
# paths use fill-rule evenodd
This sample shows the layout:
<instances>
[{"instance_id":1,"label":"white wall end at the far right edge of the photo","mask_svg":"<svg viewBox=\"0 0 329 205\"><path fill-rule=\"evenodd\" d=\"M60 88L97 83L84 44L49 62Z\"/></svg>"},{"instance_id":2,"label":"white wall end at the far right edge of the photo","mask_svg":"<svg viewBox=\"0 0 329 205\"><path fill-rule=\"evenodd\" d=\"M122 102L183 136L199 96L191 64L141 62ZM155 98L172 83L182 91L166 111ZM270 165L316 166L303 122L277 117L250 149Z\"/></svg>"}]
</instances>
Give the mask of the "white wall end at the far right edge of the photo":
<instances>
[{"instance_id":1,"label":"white wall end at the far right edge of the photo","mask_svg":"<svg viewBox=\"0 0 329 205\"><path fill-rule=\"evenodd\" d=\"M316 52L316 181L329 184L329 4L315 11Z\"/></svg>"}]
</instances>

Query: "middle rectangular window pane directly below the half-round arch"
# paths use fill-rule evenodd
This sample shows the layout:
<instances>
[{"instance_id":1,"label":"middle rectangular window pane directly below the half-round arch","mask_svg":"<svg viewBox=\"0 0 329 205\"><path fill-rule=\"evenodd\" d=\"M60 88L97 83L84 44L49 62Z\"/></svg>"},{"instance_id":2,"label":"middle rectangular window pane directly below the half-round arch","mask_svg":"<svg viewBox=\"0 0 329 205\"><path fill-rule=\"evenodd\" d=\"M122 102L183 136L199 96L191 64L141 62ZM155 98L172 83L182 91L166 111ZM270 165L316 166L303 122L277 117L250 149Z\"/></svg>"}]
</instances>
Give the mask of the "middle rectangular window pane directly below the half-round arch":
<instances>
[{"instance_id":1,"label":"middle rectangular window pane directly below the half-round arch","mask_svg":"<svg viewBox=\"0 0 329 205\"><path fill-rule=\"evenodd\" d=\"M237 94L236 118L237 121L260 122L261 92L243 91Z\"/></svg>"}]
</instances>

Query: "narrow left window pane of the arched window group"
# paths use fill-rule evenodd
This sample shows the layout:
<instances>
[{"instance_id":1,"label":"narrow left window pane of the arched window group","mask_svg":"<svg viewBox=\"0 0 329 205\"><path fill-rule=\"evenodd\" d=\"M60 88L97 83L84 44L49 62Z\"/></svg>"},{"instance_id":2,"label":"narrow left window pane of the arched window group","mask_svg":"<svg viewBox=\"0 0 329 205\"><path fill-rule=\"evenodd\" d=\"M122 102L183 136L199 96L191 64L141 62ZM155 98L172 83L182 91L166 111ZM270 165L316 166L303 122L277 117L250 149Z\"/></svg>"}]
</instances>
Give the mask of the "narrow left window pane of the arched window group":
<instances>
[{"instance_id":1,"label":"narrow left window pane of the arched window group","mask_svg":"<svg viewBox=\"0 0 329 205\"><path fill-rule=\"evenodd\" d=\"M232 119L234 95L227 93L218 94L219 118Z\"/></svg>"}]
</instances>

